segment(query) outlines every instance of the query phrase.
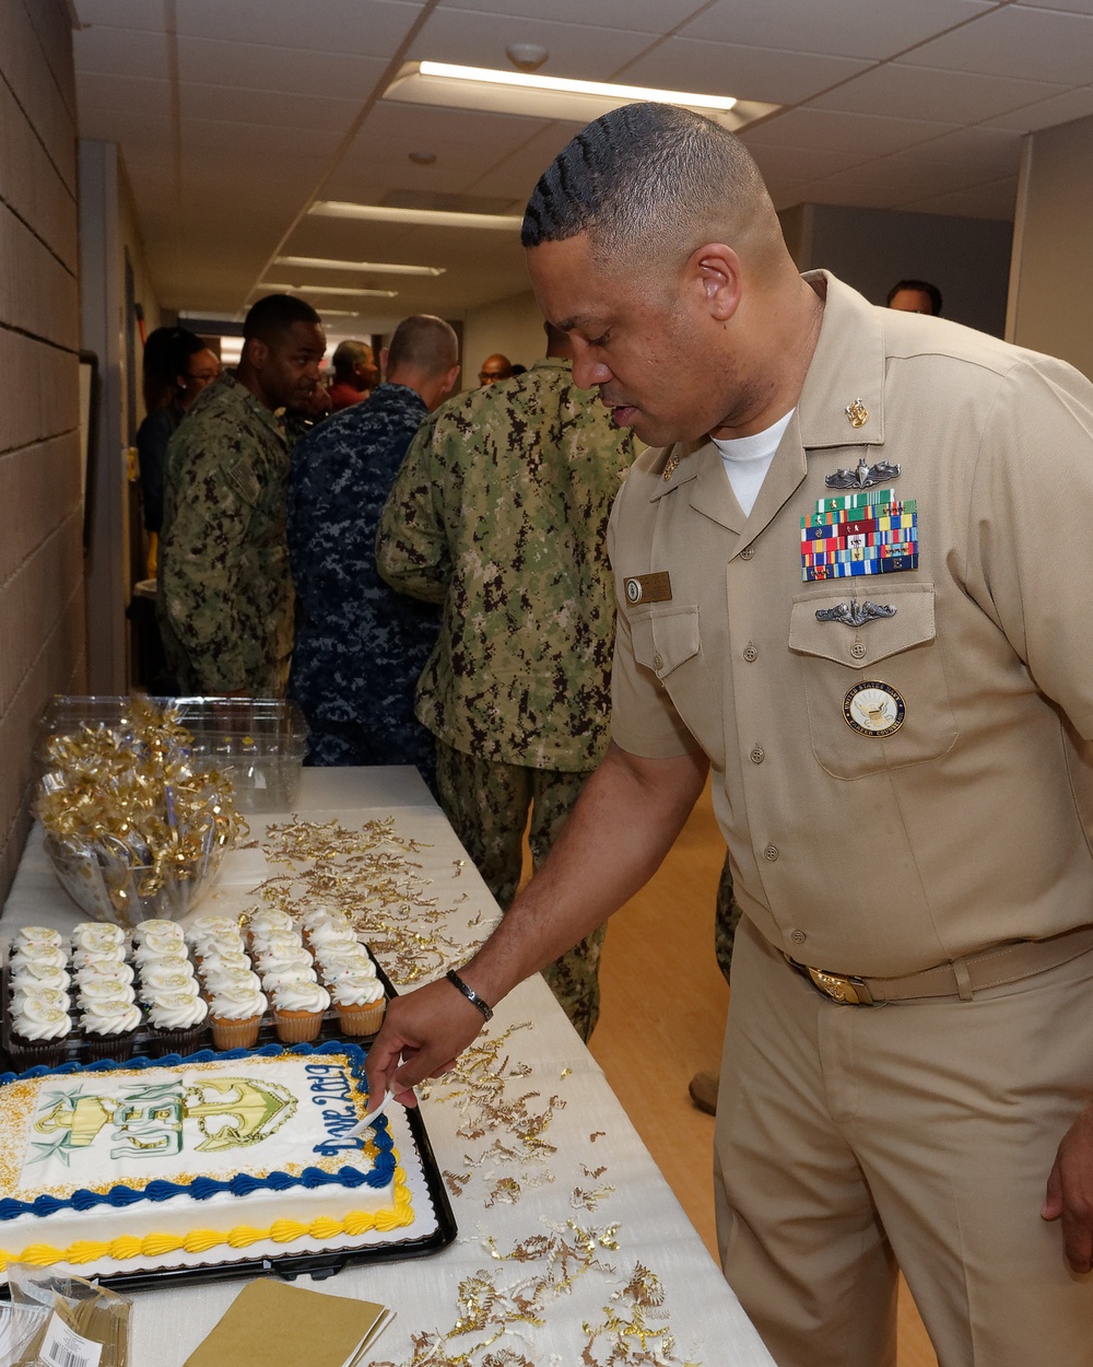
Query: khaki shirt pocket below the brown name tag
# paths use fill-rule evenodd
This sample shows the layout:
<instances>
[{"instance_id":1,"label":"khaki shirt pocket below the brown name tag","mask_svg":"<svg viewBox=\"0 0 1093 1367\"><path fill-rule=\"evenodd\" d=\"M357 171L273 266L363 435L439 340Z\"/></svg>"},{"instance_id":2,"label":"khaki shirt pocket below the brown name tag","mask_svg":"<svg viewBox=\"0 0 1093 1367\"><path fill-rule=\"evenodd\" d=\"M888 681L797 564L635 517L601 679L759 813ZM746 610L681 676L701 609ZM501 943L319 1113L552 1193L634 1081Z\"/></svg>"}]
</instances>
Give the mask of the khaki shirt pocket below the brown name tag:
<instances>
[{"instance_id":1,"label":"khaki shirt pocket below the brown name tag","mask_svg":"<svg viewBox=\"0 0 1093 1367\"><path fill-rule=\"evenodd\" d=\"M630 612L634 659L652 670L701 748L716 764L725 760L721 701L702 653L697 607L671 606Z\"/></svg>"}]
</instances>

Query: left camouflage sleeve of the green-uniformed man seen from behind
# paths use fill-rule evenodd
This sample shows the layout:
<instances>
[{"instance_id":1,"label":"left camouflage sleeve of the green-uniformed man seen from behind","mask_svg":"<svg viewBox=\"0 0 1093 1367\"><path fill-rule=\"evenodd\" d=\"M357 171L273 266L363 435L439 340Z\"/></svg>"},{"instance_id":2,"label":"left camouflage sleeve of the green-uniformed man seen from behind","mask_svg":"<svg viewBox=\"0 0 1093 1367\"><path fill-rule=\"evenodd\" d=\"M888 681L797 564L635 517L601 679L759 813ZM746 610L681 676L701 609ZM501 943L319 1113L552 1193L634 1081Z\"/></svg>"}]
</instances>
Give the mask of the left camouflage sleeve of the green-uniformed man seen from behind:
<instances>
[{"instance_id":1,"label":"left camouflage sleeve of the green-uniformed man seen from behind","mask_svg":"<svg viewBox=\"0 0 1093 1367\"><path fill-rule=\"evenodd\" d=\"M395 478L376 536L376 566L392 589L443 603L452 577L443 498L433 459L436 422L414 437Z\"/></svg>"}]
</instances>

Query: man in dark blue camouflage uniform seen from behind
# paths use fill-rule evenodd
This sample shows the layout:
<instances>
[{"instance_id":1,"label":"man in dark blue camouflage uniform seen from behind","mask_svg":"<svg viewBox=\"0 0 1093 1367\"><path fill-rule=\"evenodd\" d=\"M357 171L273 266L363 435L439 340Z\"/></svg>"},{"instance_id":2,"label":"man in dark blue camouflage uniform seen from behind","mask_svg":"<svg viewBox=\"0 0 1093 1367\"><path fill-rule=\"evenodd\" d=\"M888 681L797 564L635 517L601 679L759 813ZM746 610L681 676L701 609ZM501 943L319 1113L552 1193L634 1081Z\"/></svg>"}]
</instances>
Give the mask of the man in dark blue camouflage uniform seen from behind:
<instances>
[{"instance_id":1,"label":"man in dark blue camouflage uniform seen from behind","mask_svg":"<svg viewBox=\"0 0 1093 1367\"><path fill-rule=\"evenodd\" d=\"M415 764L434 786L436 746L414 716L414 685L436 645L440 608L383 582L376 528L410 442L455 385L458 354L441 319L406 319L381 357L387 381L292 454L288 694L307 718L310 764Z\"/></svg>"}]
</instances>

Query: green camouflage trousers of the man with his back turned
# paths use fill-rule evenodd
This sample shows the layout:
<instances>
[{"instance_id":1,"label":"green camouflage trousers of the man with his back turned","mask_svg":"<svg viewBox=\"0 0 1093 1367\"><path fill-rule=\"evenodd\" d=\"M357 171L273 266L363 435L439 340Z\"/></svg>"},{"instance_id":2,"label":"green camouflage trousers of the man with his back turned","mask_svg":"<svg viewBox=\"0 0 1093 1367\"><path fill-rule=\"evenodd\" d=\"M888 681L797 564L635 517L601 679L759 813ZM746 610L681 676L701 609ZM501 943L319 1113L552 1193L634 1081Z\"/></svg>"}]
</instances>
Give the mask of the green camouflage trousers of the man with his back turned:
<instances>
[{"instance_id":1,"label":"green camouflage trousers of the man with his back turned","mask_svg":"<svg viewBox=\"0 0 1093 1367\"><path fill-rule=\"evenodd\" d=\"M474 860L482 880L507 912L523 864L523 830L536 868L546 858L587 772L533 770L465 755L436 742L436 785L444 815ZM607 925L597 927L542 971L546 984L587 1043L600 1016L600 950Z\"/></svg>"}]
</instances>

